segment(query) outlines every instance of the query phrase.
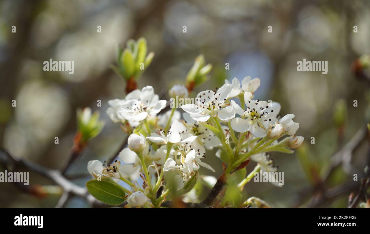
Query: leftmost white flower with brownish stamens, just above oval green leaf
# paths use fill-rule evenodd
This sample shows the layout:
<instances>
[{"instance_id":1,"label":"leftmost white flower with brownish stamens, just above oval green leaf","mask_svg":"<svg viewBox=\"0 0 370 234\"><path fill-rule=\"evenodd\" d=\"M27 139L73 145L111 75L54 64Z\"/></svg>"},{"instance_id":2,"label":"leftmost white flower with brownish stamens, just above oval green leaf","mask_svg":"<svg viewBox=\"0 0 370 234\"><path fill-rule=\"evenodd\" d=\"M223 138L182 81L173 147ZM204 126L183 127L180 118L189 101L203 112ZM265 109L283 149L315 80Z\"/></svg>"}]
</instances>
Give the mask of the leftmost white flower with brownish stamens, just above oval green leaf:
<instances>
[{"instance_id":1,"label":"leftmost white flower with brownish stamens, just above oval green leaf","mask_svg":"<svg viewBox=\"0 0 370 234\"><path fill-rule=\"evenodd\" d=\"M97 178L99 175L104 177L115 177L120 178L120 162L115 161L113 164L104 167L101 161L99 160L92 160L87 163L87 170L88 172Z\"/></svg>"}]
</instances>

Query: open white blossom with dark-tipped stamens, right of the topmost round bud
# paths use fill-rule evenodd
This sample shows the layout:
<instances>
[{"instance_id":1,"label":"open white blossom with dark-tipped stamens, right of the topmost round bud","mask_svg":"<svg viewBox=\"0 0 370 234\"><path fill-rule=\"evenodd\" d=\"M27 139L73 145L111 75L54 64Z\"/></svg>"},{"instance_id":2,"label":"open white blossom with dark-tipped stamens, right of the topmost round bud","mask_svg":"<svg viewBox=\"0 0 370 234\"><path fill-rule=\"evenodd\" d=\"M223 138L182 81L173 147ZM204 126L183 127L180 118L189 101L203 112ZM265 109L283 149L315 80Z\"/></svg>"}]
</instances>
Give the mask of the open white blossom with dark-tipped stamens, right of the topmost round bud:
<instances>
[{"instance_id":1,"label":"open white blossom with dark-tipped stamens, right of the topmost round bud","mask_svg":"<svg viewBox=\"0 0 370 234\"><path fill-rule=\"evenodd\" d=\"M196 96L195 104L182 105L181 108L199 122L207 121L211 115L217 115L221 120L228 122L235 117L233 108L224 104L231 90L231 84L224 84L217 92L202 91Z\"/></svg>"}]
</instances>

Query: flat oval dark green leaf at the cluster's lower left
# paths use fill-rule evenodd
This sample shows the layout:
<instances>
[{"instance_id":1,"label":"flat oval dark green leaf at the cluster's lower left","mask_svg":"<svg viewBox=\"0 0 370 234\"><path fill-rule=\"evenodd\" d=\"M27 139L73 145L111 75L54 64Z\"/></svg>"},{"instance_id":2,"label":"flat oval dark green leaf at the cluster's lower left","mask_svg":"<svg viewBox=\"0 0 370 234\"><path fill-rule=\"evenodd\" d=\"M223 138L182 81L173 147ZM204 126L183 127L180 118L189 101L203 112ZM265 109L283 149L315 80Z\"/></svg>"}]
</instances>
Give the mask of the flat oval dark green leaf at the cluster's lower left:
<instances>
[{"instance_id":1,"label":"flat oval dark green leaf at the cluster's lower left","mask_svg":"<svg viewBox=\"0 0 370 234\"><path fill-rule=\"evenodd\" d=\"M108 180L90 180L86 183L87 191L97 200L109 205L120 205L125 201L122 187Z\"/></svg>"}]
</instances>

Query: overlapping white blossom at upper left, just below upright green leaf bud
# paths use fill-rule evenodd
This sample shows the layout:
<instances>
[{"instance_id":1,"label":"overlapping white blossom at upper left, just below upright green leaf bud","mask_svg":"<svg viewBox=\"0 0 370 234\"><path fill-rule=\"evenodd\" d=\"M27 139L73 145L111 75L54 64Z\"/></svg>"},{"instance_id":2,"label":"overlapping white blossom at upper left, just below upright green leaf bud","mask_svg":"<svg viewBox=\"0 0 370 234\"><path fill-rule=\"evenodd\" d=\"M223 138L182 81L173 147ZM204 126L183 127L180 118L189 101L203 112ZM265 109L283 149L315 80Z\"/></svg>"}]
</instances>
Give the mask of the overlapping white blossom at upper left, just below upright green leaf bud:
<instances>
[{"instance_id":1,"label":"overlapping white blossom at upper left, just below upright green leaf bud","mask_svg":"<svg viewBox=\"0 0 370 234\"><path fill-rule=\"evenodd\" d=\"M139 97L137 97L137 92L129 97L134 98L125 101L117 112L125 119L132 121L142 121L147 117L156 116L167 103L165 100L159 100L151 86L142 88Z\"/></svg>"}]
</instances>

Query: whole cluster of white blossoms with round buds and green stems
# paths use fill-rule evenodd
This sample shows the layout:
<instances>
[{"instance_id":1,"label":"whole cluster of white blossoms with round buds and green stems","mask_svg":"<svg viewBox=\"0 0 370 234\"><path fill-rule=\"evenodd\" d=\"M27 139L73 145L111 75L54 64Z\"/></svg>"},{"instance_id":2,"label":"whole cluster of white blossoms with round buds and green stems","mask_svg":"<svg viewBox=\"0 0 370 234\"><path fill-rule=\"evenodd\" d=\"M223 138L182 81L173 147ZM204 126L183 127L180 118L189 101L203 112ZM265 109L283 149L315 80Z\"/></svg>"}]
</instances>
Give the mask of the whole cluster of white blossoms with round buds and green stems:
<instances>
[{"instance_id":1,"label":"whole cluster of white blossoms with round buds and green stems","mask_svg":"<svg viewBox=\"0 0 370 234\"><path fill-rule=\"evenodd\" d=\"M228 165L226 174L249 157L263 171L275 172L269 152L291 153L303 137L295 136L299 123L293 121L294 114L280 116L279 103L253 99L259 85L259 78L245 77L241 85L237 78L232 83L225 80L220 88L199 92L195 103L182 105L182 114L175 108L165 111L168 102L160 100L151 86L134 90L122 100L108 101L107 115L129 134L128 147L110 165L90 161L89 173L131 185L128 206L158 207L171 194L188 193L199 177L199 168L215 172L204 162L206 150L218 148L216 157ZM175 85L169 94L188 97L191 93ZM140 177L142 186L137 183ZM160 187L164 190L157 198Z\"/></svg>"}]
</instances>

